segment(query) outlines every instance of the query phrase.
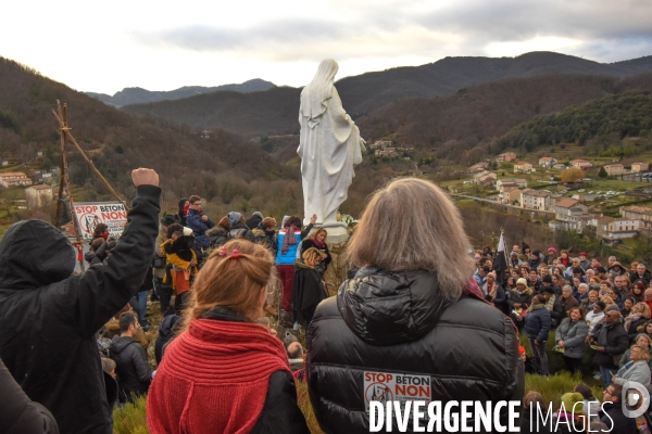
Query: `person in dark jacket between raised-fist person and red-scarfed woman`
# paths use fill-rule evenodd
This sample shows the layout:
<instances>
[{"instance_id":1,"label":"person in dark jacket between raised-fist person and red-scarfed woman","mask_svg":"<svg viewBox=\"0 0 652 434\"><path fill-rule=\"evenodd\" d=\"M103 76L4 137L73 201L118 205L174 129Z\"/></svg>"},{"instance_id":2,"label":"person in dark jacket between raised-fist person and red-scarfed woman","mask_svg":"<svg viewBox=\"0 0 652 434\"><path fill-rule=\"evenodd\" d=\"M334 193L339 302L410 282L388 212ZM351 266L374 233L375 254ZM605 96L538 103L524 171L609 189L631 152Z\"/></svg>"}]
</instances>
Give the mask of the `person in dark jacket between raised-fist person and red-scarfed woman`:
<instances>
[{"instance_id":1,"label":"person in dark jacket between raised-fist person and red-scarfed woman","mask_svg":"<svg viewBox=\"0 0 652 434\"><path fill-rule=\"evenodd\" d=\"M134 339L139 328L134 312L120 316L120 336L111 342L111 358L115 361L118 399L121 404L133 403L138 396L147 394L151 382L151 370L147 362L147 353Z\"/></svg>"}]
</instances>

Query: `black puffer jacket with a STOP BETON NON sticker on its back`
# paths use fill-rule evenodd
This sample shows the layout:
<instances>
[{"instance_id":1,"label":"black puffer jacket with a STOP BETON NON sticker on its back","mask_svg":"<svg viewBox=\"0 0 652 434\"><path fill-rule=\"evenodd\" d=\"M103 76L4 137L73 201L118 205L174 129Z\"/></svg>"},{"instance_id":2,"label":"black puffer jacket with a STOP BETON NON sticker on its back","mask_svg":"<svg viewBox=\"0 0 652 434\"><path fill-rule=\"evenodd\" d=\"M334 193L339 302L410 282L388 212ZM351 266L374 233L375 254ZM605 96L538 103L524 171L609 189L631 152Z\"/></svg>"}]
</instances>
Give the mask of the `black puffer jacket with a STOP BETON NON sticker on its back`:
<instances>
[{"instance_id":1,"label":"black puffer jacket with a STOP BETON NON sticker on its back","mask_svg":"<svg viewBox=\"0 0 652 434\"><path fill-rule=\"evenodd\" d=\"M471 296L444 302L427 271L360 270L319 304L306 341L311 401L326 433L368 432L365 371L429 376L432 400L523 398L512 322Z\"/></svg>"}]
</instances>

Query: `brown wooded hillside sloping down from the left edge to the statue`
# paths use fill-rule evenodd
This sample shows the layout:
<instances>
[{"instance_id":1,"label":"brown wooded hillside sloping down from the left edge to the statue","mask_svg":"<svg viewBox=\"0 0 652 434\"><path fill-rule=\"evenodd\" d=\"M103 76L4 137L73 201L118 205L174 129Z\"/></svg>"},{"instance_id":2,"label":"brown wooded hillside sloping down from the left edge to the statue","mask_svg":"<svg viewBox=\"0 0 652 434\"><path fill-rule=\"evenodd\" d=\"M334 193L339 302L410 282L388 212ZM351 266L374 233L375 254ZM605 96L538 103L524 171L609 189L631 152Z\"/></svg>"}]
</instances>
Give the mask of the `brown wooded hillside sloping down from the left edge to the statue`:
<instances>
[{"instance_id":1,"label":"brown wooded hillside sloping down from the left edge to the statue","mask_svg":"<svg viewBox=\"0 0 652 434\"><path fill-rule=\"evenodd\" d=\"M72 132L95 165L118 192L133 194L129 179L135 167L153 167L160 175L168 204L181 195L202 194L217 203L237 200L241 191L259 191L278 182L279 206L287 182L294 182L296 169L280 165L255 143L224 130L204 139L187 126L167 120L139 118L110 107L35 71L0 58L0 157L27 162L45 151L45 167L59 163L58 124L52 115L57 100L68 104ZM75 153L71 153L72 181L85 187L87 199L106 195ZM251 182L259 187L244 189ZM251 188L251 190L249 190ZM249 199L254 193L249 193ZM264 203L261 203L263 206Z\"/></svg>"}]
</instances>

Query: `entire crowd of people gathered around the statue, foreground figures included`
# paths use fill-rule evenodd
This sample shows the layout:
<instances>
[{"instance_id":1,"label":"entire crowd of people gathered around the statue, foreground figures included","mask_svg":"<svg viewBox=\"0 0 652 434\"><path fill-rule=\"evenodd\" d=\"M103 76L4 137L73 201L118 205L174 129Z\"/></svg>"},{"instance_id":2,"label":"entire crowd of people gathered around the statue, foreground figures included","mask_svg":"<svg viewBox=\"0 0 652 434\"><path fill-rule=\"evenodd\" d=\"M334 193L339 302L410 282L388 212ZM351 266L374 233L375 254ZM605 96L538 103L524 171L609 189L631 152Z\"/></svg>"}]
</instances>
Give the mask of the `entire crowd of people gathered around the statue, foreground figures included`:
<instances>
[{"instance_id":1,"label":"entire crowd of people gathered around the statue, foreground figures included","mask_svg":"<svg viewBox=\"0 0 652 434\"><path fill-rule=\"evenodd\" d=\"M0 432L111 433L113 408L147 394L152 433L306 433L297 382L325 432L368 432L374 391L363 379L376 372L428 379L426 400L523 400L525 427L527 410L546 403L525 393L524 372L549 375L550 357L579 371L588 352L613 404L569 432L607 420L617 421L612 433L644 432L647 419L625 418L619 403L624 382L651 382L643 264L602 266L584 252L522 244L497 272L491 247L468 254L446 193L406 178L373 195L347 246L349 279L329 297L317 216L305 228L286 216L278 231L261 213L215 224L192 195L160 217L158 175L138 169L133 179L124 233L114 240L98 225L84 273L73 273L74 248L43 221L17 222L0 241ZM155 371L150 294L163 316ZM268 317L305 331L308 348L290 332L276 336ZM562 401L576 412L560 409L555 420L588 421L581 409L597 399L578 384ZM497 417L506 424L506 408Z\"/></svg>"}]
</instances>

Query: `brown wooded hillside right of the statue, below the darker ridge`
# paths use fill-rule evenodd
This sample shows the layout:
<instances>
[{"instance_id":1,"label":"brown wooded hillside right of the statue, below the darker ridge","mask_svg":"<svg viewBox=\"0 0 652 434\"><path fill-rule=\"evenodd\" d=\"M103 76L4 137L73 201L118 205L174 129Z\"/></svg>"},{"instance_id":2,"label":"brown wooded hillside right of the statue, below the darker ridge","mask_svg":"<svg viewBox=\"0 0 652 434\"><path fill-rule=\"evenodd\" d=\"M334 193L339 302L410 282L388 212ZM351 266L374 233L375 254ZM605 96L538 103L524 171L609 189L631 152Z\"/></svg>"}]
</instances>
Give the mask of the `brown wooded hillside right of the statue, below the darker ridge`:
<instances>
[{"instance_id":1,"label":"brown wooded hillside right of the statue, below the darker ridge","mask_svg":"<svg viewBox=\"0 0 652 434\"><path fill-rule=\"evenodd\" d=\"M440 157L474 159L496 153L498 138L534 116L630 90L652 90L652 74L505 79L461 89L446 98L401 100L358 124L365 137L430 148Z\"/></svg>"}]
</instances>

